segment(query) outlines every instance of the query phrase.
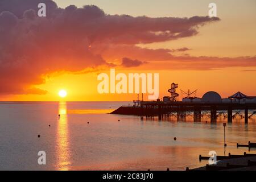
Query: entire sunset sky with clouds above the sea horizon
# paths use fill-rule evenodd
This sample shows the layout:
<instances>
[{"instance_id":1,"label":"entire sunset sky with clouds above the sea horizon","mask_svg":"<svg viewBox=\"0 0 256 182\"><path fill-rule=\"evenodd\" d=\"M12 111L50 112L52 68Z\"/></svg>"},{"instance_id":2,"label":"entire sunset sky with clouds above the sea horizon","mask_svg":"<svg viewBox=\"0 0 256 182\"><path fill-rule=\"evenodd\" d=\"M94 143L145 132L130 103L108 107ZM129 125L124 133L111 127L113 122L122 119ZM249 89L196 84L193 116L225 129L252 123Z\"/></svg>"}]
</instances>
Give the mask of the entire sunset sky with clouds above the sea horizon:
<instances>
[{"instance_id":1,"label":"entire sunset sky with clouds above the sea horizon","mask_svg":"<svg viewBox=\"0 0 256 182\"><path fill-rule=\"evenodd\" d=\"M46 18L37 16L39 2ZM217 18L208 17L210 2ZM159 73L159 98L172 82L197 89L197 97L209 90L256 96L256 1L1 3L0 101L59 101L60 89L67 101L137 99L97 92L97 75L110 68Z\"/></svg>"}]
</instances>

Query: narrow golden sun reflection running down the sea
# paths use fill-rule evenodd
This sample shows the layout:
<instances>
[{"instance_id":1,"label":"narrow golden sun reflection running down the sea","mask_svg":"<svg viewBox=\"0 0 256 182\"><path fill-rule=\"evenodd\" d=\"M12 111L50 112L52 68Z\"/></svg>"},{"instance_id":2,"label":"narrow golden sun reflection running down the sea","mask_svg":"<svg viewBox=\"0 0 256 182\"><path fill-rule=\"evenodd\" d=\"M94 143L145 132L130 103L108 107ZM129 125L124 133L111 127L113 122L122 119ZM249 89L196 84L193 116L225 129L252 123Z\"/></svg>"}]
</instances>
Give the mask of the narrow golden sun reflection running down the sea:
<instances>
[{"instance_id":1,"label":"narrow golden sun reflection running down the sea","mask_svg":"<svg viewBox=\"0 0 256 182\"><path fill-rule=\"evenodd\" d=\"M57 121L57 169L68 170L70 162L68 115L66 102L59 102L59 118Z\"/></svg>"}]
</instances>

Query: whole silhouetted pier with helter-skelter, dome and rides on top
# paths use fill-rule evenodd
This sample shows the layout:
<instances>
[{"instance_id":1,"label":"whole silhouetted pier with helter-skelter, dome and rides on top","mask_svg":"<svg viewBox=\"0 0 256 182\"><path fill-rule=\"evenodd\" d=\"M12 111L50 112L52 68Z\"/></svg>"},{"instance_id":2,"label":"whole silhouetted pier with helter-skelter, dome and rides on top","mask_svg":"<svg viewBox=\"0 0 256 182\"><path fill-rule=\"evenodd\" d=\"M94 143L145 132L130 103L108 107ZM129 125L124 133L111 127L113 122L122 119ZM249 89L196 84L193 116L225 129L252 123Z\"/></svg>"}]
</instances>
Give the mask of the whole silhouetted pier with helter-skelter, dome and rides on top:
<instances>
[{"instance_id":1,"label":"whole silhouetted pier with helter-skelter, dome and rides on top","mask_svg":"<svg viewBox=\"0 0 256 182\"><path fill-rule=\"evenodd\" d=\"M246 96L237 92L228 98L221 98L217 92L209 91L199 98L192 97L197 90L193 92L181 90L186 97L182 101L177 101L179 96L176 93L177 88L178 84L173 82L168 89L170 96L164 96L162 101L160 99L143 101L143 94L140 101L138 94L138 99L133 101L133 106L121 106L112 114L139 115L142 119L158 116L159 121L172 116L176 117L177 121L186 121L188 115L193 115L194 122L200 122L205 116L210 118L210 122L217 122L217 118L223 116L229 123L236 117L244 118L245 123L248 123L248 119L256 115L256 96Z\"/></svg>"}]
</instances>

